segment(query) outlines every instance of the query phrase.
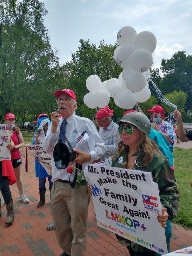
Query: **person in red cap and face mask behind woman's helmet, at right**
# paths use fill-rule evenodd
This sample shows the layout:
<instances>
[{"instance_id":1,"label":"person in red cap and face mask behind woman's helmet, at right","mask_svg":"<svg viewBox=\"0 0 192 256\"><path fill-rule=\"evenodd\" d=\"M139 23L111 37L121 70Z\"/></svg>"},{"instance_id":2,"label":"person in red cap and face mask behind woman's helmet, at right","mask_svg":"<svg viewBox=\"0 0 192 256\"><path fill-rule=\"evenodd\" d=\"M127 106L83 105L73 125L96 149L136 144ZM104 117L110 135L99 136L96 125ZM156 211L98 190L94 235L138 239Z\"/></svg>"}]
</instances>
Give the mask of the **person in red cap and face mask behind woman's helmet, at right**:
<instances>
[{"instance_id":1,"label":"person in red cap and face mask behind woman's helmet, at right","mask_svg":"<svg viewBox=\"0 0 192 256\"><path fill-rule=\"evenodd\" d=\"M165 110L162 106L155 105L153 108L147 110L150 113L150 120L152 122L152 127L159 132L163 133L168 142L174 146L175 144L175 130L171 123L164 121Z\"/></svg>"}]
</instances>

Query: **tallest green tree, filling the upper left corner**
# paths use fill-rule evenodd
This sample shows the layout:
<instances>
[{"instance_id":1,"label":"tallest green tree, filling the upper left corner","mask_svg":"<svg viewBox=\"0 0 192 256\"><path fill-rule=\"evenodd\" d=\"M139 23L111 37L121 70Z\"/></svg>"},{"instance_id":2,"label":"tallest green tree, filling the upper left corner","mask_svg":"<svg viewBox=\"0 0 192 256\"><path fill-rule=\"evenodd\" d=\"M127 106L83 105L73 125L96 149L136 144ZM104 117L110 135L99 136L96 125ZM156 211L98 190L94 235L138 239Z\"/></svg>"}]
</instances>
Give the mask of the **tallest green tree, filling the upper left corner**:
<instances>
[{"instance_id":1,"label":"tallest green tree, filling the upper left corner","mask_svg":"<svg viewBox=\"0 0 192 256\"><path fill-rule=\"evenodd\" d=\"M44 5L38 0L1 2L0 115L11 111L24 123L30 113L50 111L53 91L65 75L43 24Z\"/></svg>"}]
</instances>

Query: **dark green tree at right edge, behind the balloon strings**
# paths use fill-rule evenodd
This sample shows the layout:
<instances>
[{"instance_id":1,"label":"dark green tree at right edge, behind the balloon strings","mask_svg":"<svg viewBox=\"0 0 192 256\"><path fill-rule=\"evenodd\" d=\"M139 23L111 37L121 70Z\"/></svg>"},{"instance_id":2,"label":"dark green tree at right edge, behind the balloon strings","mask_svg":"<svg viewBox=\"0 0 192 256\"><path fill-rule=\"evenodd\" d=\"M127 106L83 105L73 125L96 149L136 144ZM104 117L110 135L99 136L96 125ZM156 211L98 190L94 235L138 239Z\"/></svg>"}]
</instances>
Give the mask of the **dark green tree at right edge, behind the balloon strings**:
<instances>
[{"instance_id":1,"label":"dark green tree at right edge, behind the balloon strings","mask_svg":"<svg viewBox=\"0 0 192 256\"><path fill-rule=\"evenodd\" d=\"M185 51L178 51L170 59L162 59L163 78L159 88L164 93L182 90L188 94L187 109L192 109L192 56Z\"/></svg>"}]
</instances>

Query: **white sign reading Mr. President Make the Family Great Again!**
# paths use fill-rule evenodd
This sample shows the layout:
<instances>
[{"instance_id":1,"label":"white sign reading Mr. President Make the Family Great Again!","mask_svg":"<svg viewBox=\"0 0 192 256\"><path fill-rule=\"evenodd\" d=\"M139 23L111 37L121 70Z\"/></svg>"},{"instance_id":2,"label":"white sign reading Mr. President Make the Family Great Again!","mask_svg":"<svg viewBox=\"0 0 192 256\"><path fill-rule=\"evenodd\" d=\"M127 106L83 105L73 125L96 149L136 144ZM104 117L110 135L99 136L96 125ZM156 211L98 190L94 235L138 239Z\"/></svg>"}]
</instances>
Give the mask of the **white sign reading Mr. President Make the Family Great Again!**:
<instances>
[{"instance_id":1,"label":"white sign reading Mr. President Make the Family Great Again!","mask_svg":"<svg viewBox=\"0 0 192 256\"><path fill-rule=\"evenodd\" d=\"M156 219L162 212L158 185L150 172L92 164L84 175L93 191L98 226L167 253L165 230Z\"/></svg>"}]
</instances>

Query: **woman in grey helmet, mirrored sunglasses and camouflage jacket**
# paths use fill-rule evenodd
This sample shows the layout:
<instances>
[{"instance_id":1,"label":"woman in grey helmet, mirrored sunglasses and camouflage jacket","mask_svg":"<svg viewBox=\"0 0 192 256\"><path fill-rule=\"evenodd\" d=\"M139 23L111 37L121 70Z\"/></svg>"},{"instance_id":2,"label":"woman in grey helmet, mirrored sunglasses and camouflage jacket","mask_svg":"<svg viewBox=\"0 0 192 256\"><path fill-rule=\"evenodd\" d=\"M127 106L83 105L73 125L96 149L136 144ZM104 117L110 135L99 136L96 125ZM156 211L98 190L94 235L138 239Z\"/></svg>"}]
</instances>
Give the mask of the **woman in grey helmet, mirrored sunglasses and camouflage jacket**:
<instances>
[{"instance_id":1,"label":"woman in grey helmet, mirrored sunglasses and camouflage jacket","mask_svg":"<svg viewBox=\"0 0 192 256\"><path fill-rule=\"evenodd\" d=\"M152 173L153 180L159 187L163 207L162 215L158 215L157 220L162 227L166 227L167 220L177 215L179 193L173 170L170 169L156 144L148 138L151 129L150 120L143 113L132 112L124 115L118 124L121 141L118 146L118 155L114 158L112 166ZM127 244L131 256L156 254L119 236L118 240Z\"/></svg>"}]
</instances>

